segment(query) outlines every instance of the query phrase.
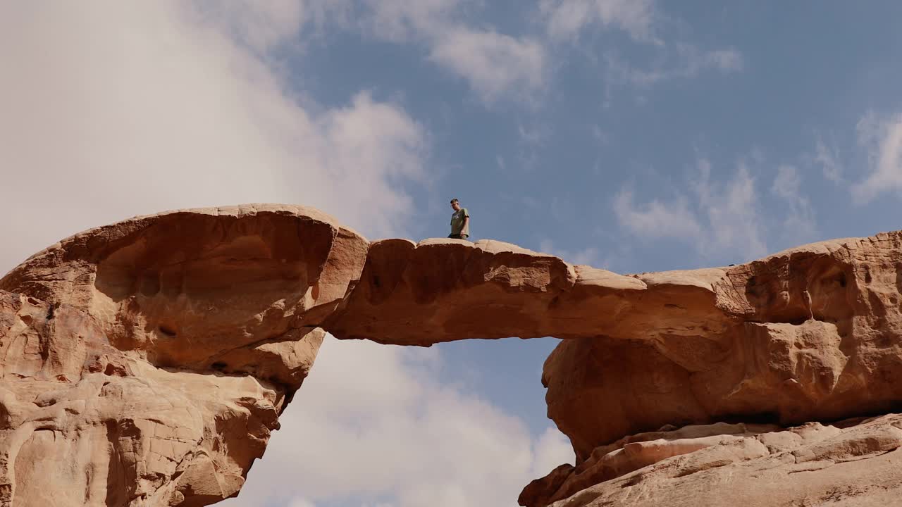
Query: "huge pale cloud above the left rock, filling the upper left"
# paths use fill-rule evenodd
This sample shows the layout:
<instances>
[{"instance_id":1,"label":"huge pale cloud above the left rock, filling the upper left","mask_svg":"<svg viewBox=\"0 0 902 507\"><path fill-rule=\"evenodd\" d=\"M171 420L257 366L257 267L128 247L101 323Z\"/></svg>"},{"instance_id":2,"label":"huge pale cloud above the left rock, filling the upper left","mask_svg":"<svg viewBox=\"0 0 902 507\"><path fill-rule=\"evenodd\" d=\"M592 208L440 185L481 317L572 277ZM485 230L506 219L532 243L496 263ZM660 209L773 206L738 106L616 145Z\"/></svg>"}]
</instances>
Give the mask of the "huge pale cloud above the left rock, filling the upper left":
<instances>
[{"instance_id":1,"label":"huge pale cloud above the left rock, filling the upper left","mask_svg":"<svg viewBox=\"0 0 902 507\"><path fill-rule=\"evenodd\" d=\"M401 106L365 92L301 106L270 62L189 4L0 10L0 168L16 189L0 270L89 226L178 207L299 202L373 235L404 226L427 134Z\"/></svg>"}]
</instances>

